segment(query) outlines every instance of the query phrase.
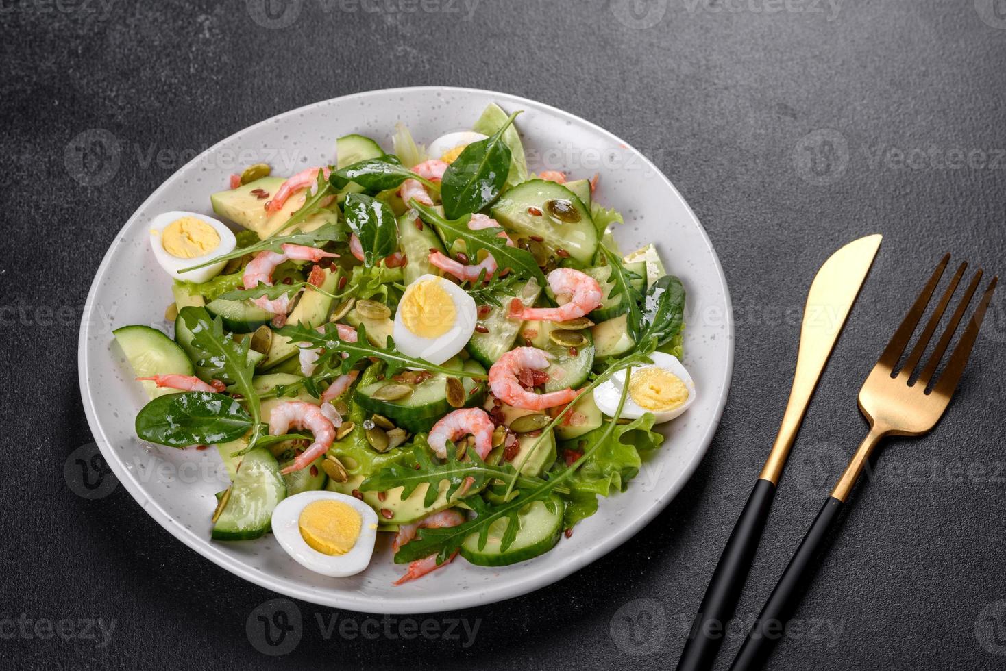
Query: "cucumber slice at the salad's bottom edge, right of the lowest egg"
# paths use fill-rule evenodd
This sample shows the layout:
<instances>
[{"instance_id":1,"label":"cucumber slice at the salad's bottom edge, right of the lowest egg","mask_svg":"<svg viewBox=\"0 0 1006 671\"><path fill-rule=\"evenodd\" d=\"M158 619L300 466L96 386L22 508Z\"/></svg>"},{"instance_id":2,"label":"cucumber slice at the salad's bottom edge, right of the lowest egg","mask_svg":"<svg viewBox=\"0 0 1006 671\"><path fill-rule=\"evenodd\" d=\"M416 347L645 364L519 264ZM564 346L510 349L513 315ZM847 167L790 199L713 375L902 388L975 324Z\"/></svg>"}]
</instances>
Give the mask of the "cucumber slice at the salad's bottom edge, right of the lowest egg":
<instances>
[{"instance_id":1,"label":"cucumber slice at the salad's bottom edge, right of the lowest egg","mask_svg":"<svg viewBox=\"0 0 1006 671\"><path fill-rule=\"evenodd\" d=\"M479 548L479 534L472 533L461 543L461 555L480 567L505 567L547 552L559 541L564 504L557 496L532 501L517 514L517 537L505 550L503 533L508 520L498 519L489 526L486 544Z\"/></svg>"}]
</instances>

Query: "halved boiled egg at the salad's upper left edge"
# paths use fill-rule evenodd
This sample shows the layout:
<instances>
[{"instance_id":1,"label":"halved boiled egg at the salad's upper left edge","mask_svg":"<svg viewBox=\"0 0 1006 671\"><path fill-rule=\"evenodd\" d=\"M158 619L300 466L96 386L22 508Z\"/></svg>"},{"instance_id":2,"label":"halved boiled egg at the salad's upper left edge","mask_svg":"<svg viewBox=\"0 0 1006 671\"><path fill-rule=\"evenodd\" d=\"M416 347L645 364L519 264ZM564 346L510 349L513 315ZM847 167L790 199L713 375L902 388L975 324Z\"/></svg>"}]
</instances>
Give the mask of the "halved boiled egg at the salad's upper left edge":
<instances>
[{"instance_id":1,"label":"halved boiled egg at the salad's upper left edge","mask_svg":"<svg viewBox=\"0 0 1006 671\"><path fill-rule=\"evenodd\" d=\"M157 262L174 279L205 282L223 269L226 261L181 272L228 254L237 246L230 229L221 222L196 212L165 212L150 222L150 247Z\"/></svg>"}]
</instances>

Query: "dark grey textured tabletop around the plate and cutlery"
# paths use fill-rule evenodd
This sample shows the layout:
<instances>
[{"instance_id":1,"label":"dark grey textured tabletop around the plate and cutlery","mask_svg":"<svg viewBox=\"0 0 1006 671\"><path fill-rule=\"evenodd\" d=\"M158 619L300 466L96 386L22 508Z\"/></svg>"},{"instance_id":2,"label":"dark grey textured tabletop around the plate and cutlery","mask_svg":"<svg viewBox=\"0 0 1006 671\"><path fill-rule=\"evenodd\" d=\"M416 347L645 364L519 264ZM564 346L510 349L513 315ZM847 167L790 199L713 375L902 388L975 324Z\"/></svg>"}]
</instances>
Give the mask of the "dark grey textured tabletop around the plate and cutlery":
<instances>
[{"instance_id":1,"label":"dark grey textured tabletop around the plate and cutlery","mask_svg":"<svg viewBox=\"0 0 1006 671\"><path fill-rule=\"evenodd\" d=\"M471 21L463 0L364 2L377 12L305 0L282 29L253 20L261 0L72 4L0 5L5 668L666 668L774 436L813 270L845 241L886 235L780 487L744 619L863 433L855 390L925 273L945 251L1004 261L1000 0L846 0L837 11L811 0L483 0ZM301 603L302 640L278 661L245 633L276 595L184 547L121 487L85 500L64 482L66 456L92 440L75 315L116 231L193 152L318 99L427 83L537 98L654 159L726 270L730 399L695 476L623 547L533 595L414 619L443 631L463 618L479 626L474 644L462 628L460 640L404 641L401 618L392 638L366 616ZM101 186L67 175L64 150L89 129L124 148ZM836 133L815 134L824 129ZM772 668L1002 668L1001 296L943 424L889 442L859 487ZM100 630L43 638L22 617L69 619L77 635L91 632L81 619L115 629L105 645ZM331 617L363 630L336 625L326 639L319 619ZM741 636L731 630L720 668Z\"/></svg>"}]
</instances>

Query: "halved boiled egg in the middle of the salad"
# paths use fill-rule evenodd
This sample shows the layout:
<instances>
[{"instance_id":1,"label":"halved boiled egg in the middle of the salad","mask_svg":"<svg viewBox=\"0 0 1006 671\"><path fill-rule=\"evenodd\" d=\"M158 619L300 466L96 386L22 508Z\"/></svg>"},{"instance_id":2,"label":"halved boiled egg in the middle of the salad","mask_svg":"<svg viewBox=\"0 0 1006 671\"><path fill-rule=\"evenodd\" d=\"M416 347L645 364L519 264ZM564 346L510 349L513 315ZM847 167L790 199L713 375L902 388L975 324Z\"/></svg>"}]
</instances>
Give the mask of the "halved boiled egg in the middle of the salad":
<instances>
[{"instance_id":1,"label":"halved boiled egg in the middle of the salad","mask_svg":"<svg viewBox=\"0 0 1006 671\"><path fill-rule=\"evenodd\" d=\"M421 275L405 287L391 337L409 357L443 364L461 352L478 319L475 299L449 279Z\"/></svg>"}]
</instances>

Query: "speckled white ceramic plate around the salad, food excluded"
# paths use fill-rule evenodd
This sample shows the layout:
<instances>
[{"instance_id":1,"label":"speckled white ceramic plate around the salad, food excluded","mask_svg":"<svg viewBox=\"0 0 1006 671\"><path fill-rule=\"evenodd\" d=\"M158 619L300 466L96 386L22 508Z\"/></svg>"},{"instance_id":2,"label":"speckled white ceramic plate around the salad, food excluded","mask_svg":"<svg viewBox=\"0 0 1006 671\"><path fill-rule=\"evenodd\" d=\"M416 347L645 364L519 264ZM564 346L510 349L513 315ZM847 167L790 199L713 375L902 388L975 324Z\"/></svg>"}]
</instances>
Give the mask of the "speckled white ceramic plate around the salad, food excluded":
<instances>
[{"instance_id":1,"label":"speckled white ceramic plate around the salad, food excluded","mask_svg":"<svg viewBox=\"0 0 1006 671\"><path fill-rule=\"evenodd\" d=\"M213 493L226 486L215 450L174 450L142 443L133 430L147 399L132 380L112 329L163 321L170 282L148 247L147 225L166 210L211 213L209 195L227 176L264 161L289 175L334 160L336 138L360 133L390 151L396 122L420 143L470 128L483 108L524 109L517 124L531 170L564 170L574 178L601 174L596 198L620 210L617 233L626 251L655 242L668 271L687 290L684 364L697 400L664 425L664 446L644 464L628 491L601 501L600 511L551 551L500 569L463 560L401 587L403 568L378 540L369 569L352 578L325 578L301 568L272 536L214 542ZM671 138L667 142L672 142ZM294 109L257 124L197 156L147 199L119 232L91 286L78 346L83 408L110 467L140 506L182 542L262 587L308 602L366 613L430 613L490 604L568 576L625 542L680 491L712 439L726 402L733 362L730 300L709 238L681 195L639 152L577 117L526 98L469 88L425 86L356 93ZM139 514L139 511L137 511ZM385 534L382 534L385 535Z\"/></svg>"}]
</instances>

